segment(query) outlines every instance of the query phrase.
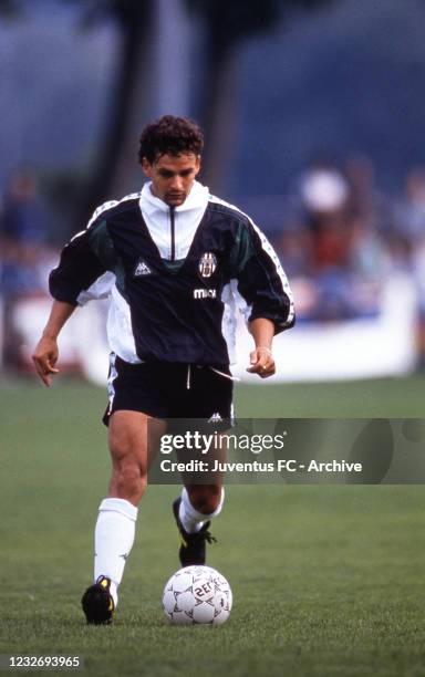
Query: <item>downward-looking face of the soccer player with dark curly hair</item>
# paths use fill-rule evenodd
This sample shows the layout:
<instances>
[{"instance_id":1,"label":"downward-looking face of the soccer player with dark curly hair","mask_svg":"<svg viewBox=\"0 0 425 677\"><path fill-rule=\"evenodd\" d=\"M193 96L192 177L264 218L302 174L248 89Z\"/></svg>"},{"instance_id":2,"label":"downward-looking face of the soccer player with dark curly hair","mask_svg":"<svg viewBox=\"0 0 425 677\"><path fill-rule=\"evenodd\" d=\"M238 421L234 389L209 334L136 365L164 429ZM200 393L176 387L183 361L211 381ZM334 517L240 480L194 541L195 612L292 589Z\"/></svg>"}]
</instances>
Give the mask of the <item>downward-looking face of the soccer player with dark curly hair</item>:
<instances>
[{"instance_id":1,"label":"downward-looking face of the soccer player with dark curly hair","mask_svg":"<svg viewBox=\"0 0 425 677\"><path fill-rule=\"evenodd\" d=\"M144 157L142 167L152 180L152 192L170 207L182 205L190 192L200 169L200 157L194 153L160 155L153 165Z\"/></svg>"}]
</instances>

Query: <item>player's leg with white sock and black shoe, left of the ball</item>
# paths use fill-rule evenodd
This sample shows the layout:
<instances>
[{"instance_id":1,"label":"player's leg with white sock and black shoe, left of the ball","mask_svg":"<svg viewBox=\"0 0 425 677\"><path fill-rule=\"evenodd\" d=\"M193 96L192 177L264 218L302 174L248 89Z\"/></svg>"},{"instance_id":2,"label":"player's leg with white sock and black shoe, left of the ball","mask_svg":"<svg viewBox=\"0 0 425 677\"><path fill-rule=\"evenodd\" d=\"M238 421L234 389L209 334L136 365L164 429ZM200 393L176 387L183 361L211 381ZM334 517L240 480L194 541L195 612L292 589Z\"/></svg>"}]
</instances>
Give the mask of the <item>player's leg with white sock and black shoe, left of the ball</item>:
<instances>
[{"instance_id":1,"label":"player's leg with white sock and black shoe, left of the ball","mask_svg":"<svg viewBox=\"0 0 425 677\"><path fill-rule=\"evenodd\" d=\"M164 431L164 421L151 418L148 424L148 417L138 412L118 410L110 418L112 477L95 527L95 584L83 596L87 622L105 623L112 618L134 542L137 504L146 488L148 449L156 446Z\"/></svg>"}]
</instances>

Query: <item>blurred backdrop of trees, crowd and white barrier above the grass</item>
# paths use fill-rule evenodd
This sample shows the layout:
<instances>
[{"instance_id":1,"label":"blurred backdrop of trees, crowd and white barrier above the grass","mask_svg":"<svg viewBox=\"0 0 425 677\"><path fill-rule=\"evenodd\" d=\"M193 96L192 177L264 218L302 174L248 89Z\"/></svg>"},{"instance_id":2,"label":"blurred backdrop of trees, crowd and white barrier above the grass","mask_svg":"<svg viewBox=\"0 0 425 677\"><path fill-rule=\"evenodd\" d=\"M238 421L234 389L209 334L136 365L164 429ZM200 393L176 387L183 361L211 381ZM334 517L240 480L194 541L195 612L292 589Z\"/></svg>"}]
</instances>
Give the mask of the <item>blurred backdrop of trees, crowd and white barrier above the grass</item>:
<instances>
[{"instance_id":1,"label":"blurred backdrop of trees, crowd and white barrier above the grass","mask_svg":"<svg viewBox=\"0 0 425 677\"><path fill-rule=\"evenodd\" d=\"M61 247L141 188L139 134L165 113L201 124L201 181L290 279L278 378L419 373L424 22L424 0L0 0L0 374L31 369ZM105 312L61 341L62 367L97 384Z\"/></svg>"}]
</instances>

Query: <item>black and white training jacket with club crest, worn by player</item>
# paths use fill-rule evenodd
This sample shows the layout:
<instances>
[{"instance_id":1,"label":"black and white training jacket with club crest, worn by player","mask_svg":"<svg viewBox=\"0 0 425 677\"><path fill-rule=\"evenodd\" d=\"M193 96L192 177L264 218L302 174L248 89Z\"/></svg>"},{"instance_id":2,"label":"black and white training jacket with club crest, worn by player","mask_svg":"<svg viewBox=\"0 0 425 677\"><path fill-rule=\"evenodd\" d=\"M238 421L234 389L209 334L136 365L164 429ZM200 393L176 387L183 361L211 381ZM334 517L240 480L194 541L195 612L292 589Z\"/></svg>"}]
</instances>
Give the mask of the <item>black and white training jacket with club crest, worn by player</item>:
<instances>
[{"instance_id":1,"label":"black and white training jacket with club crest, worn by player","mask_svg":"<svg viewBox=\"0 0 425 677\"><path fill-rule=\"evenodd\" d=\"M169 208L151 192L99 207L50 275L59 301L111 296L111 350L131 363L235 362L236 314L294 323L288 280L263 233L195 181Z\"/></svg>"}]
</instances>

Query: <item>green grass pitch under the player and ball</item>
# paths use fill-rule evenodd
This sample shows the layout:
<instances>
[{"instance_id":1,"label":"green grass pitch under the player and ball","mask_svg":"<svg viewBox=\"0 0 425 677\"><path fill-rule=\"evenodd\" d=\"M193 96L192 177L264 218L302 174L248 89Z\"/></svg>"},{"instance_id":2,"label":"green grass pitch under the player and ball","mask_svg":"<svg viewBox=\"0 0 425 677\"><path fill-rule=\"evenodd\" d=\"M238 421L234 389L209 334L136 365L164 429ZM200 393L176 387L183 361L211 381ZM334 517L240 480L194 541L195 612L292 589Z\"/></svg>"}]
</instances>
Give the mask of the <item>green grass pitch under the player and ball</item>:
<instances>
[{"instance_id":1,"label":"green grass pitch under the player and ball","mask_svg":"<svg viewBox=\"0 0 425 677\"><path fill-rule=\"evenodd\" d=\"M240 416L423 417L425 382L240 387ZM231 486L209 563L235 605L219 628L170 627L175 487L151 487L116 622L87 627L108 459L104 393L76 381L0 388L0 653L80 654L93 675L425 675L421 486Z\"/></svg>"}]
</instances>

